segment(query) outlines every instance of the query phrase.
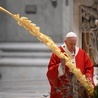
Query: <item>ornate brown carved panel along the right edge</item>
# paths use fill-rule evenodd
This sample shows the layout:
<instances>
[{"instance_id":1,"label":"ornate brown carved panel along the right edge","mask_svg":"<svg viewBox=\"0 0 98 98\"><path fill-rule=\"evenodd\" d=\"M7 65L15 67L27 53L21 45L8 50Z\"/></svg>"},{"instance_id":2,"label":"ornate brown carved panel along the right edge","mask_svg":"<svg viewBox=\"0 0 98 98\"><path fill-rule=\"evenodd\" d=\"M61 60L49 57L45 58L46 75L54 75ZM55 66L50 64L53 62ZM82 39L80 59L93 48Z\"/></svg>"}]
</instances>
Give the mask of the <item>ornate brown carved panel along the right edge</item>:
<instances>
[{"instance_id":1,"label":"ornate brown carved panel along the right edge","mask_svg":"<svg viewBox=\"0 0 98 98\"><path fill-rule=\"evenodd\" d=\"M83 49L93 64L98 64L98 2L92 6L80 6L80 31Z\"/></svg>"}]
</instances>

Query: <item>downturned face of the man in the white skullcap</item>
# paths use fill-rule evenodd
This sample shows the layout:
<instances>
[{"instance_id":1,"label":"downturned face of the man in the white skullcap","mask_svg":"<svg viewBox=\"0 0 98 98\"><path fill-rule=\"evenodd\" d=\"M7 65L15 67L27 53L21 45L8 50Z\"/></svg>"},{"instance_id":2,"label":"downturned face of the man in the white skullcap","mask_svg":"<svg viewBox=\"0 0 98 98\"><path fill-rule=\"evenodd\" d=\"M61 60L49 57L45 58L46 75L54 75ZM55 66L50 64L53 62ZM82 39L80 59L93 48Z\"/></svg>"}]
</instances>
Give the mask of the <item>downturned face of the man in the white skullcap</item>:
<instances>
[{"instance_id":1,"label":"downturned face of the man in the white skullcap","mask_svg":"<svg viewBox=\"0 0 98 98\"><path fill-rule=\"evenodd\" d=\"M67 45L67 48L70 52L74 52L75 51L75 46L77 43L77 38L76 37L68 37L65 40L65 43Z\"/></svg>"}]
</instances>

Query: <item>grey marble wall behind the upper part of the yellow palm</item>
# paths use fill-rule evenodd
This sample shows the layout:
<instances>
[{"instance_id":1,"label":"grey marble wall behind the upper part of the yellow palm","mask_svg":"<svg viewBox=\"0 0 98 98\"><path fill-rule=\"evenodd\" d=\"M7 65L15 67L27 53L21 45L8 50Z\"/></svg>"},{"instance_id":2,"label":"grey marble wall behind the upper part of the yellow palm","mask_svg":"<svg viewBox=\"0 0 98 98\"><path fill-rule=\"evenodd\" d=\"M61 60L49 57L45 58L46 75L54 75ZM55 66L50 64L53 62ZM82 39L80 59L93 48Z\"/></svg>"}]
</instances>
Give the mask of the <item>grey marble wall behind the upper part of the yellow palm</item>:
<instances>
[{"instance_id":1,"label":"grey marble wall behind the upper part of the yellow palm","mask_svg":"<svg viewBox=\"0 0 98 98\"><path fill-rule=\"evenodd\" d=\"M42 33L50 36L56 42L61 42L63 38L62 3L62 1L58 1L57 7L53 7L51 0L7 0L5 8L13 14L27 17L40 27ZM36 12L26 13L27 6L32 6L33 8L28 10L36 10ZM4 20L5 17L2 18L2 21ZM27 30L18 26L16 21L8 15L6 15L5 24L7 25L6 31L2 30L0 33L0 41L38 42L37 38L32 37Z\"/></svg>"}]
</instances>

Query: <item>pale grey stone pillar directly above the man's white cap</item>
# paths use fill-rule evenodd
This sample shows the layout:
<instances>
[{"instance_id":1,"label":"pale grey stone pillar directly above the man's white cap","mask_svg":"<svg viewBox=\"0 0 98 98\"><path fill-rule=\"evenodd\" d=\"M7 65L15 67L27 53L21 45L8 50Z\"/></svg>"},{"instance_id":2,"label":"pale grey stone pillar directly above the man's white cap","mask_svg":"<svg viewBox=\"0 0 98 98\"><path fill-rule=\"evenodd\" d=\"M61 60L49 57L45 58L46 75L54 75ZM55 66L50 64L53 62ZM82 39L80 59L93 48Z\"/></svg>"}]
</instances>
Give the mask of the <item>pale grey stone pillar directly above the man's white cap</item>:
<instances>
[{"instance_id":1,"label":"pale grey stone pillar directly above the man's white cap","mask_svg":"<svg viewBox=\"0 0 98 98\"><path fill-rule=\"evenodd\" d=\"M63 0L63 39L65 35L73 31L73 0Z\"/></svg>"}]
</instances>

